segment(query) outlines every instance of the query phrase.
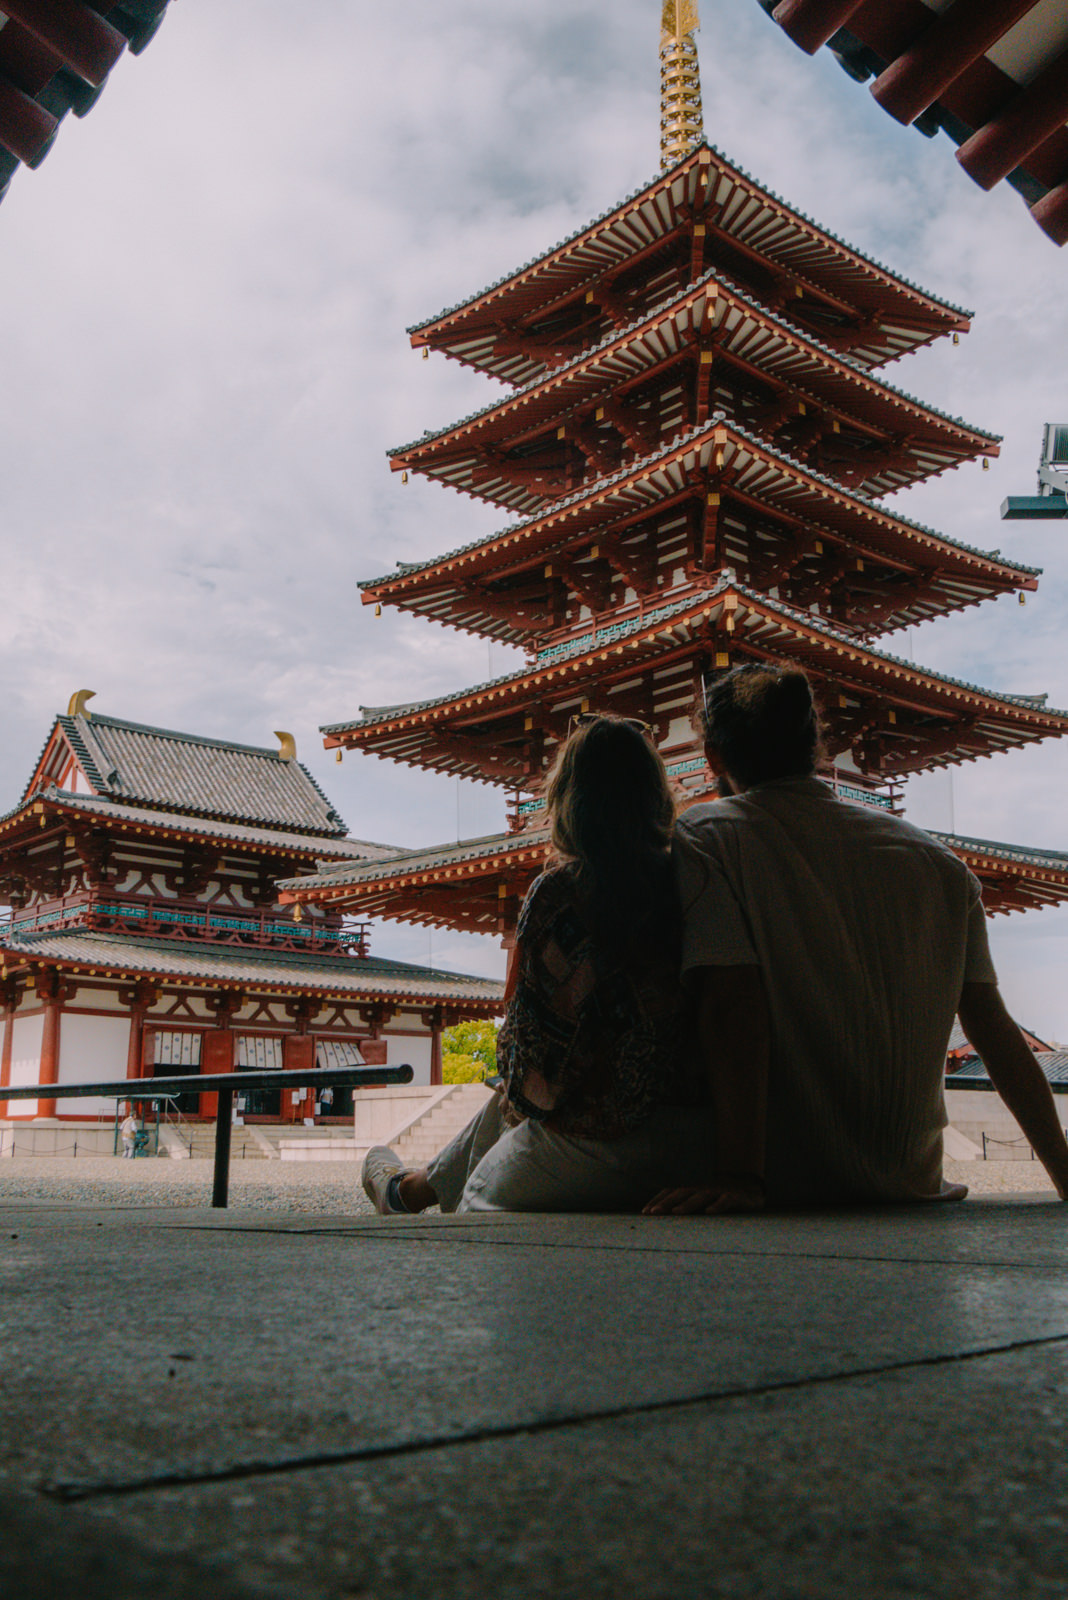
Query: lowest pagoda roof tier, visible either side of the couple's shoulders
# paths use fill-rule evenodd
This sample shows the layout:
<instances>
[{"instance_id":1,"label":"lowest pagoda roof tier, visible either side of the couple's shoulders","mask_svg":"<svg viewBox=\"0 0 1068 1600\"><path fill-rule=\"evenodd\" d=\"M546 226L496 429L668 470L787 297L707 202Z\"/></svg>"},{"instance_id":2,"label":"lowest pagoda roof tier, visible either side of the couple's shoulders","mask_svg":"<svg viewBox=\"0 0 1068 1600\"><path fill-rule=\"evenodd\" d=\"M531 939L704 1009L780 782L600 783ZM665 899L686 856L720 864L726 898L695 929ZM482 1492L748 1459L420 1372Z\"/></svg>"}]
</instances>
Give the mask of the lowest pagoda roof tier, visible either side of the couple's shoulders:
<instances>
[{"instance_id":1,"label":"lowest pagoda roof tier, visible either side of the couple's shoulders","mask_svg":"<svg viewBox=\"0 0 1068 1600\"><path fill-rule=\"evenodd\" d=\"M854 798L847 786L836 786ZM705 798L711 798L707 786ZM875 797L865 797L867 800ZM970 867L991 914L1034 910L1068 901L1068 854L985 838L932 834ZM548 832L468 838L412 850L393 861L329 867L280 883L283 899L329 906L358 917L390 917L422 926L491 933L510 941L520 904L548 859Z\"/></svg>"}]
</instances>

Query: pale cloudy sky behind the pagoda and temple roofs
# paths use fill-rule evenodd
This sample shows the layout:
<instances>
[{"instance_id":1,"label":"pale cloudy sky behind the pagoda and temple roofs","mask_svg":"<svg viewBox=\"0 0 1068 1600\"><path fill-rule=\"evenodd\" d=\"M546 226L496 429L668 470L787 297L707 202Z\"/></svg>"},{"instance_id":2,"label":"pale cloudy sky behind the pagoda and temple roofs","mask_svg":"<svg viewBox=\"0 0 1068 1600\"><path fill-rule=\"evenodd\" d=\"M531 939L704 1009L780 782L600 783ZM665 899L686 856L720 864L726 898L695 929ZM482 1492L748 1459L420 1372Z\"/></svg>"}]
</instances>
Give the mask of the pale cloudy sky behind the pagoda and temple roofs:
<instances>
[{"instance_id":1,"label":"pale cloudy sky behind the pagoda and temple roofs","mask_svg":"<svg viewBox=\"0 0 1068 1600\"><path fill-rule=\"evenodd\" d=\"M1001 523L1068 418L1058 251L945 136L900 128L756 0L702 0L705 128L796 208L975 312L884 370L1004 435L1001 459L894 496L1042 566L1036 597L886 648L1068 707L1068 525ZM173 0L85 122L0 206L0 810L74 690L107 715L248 744L296 734L361 838L496 832L496 789L318 725L518 664L360 603L357 584L508 518L385 451L500 387L406 326L542 254L659 168L659 0ZM921 826L1068 850L1068 741L908 786ZM1009 1005L1068 1040L1068 909L994 918ZM382 955L500 973L494 941L379 925Z\"/></svg>"}]
</instances>

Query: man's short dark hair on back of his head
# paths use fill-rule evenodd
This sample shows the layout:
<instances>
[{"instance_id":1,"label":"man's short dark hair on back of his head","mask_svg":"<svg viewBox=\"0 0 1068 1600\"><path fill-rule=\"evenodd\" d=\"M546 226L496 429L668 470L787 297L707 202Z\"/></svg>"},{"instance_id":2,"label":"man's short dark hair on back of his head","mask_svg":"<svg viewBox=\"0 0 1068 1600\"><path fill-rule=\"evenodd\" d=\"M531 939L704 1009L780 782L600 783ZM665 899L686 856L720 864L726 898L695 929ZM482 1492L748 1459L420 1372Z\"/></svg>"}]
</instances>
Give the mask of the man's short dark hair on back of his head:
<instances>
[{"instance_id":1,"label":"man's short dark hair on back of his head","mask_svg":"<svg viewBox=\"0 0 1068 1600\"><path fill-rule=\"evenodd\" d=\"M820 757L820 717L798 667L750 662L705 683L705 744L745 787L809 778Z\"/></svg>"}]
</instances>

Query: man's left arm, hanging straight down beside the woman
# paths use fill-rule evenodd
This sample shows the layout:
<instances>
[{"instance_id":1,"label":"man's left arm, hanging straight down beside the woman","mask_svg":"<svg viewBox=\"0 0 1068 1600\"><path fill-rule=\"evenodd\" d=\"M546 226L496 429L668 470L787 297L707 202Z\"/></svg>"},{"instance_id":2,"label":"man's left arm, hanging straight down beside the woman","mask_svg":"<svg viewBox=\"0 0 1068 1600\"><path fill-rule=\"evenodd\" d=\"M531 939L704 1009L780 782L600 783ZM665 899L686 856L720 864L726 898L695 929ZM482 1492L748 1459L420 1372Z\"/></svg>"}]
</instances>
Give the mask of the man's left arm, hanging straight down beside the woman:
<instances>
[{"instance_id":1,"label":"man's left arm, hanging straight down beside the woman","mask_svg":"<svg viewBox=\"0 0 1068 1600\"><path fill-rule=\"evenodd\" d=\"M716 1126L713 1181L703 1189L665 1189L649 1216L759 1211L764 1203L767 1122L767 998L759 966L702 966L699 1045Z\"/></svg>"}]
</instances>

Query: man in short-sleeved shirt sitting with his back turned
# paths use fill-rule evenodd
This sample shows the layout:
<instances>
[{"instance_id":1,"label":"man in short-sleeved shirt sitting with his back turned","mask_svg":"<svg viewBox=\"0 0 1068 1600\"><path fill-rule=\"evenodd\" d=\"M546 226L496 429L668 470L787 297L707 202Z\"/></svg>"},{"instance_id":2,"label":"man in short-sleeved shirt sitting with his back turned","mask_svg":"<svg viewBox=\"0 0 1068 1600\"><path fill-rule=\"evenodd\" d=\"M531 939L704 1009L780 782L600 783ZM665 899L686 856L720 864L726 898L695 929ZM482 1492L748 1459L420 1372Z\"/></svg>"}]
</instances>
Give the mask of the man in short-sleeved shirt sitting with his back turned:
<instances>
[{"instance_id":1,"label":"man in short-sleeved shirt sitting with his back turned","mask_svg":"<svg viewBox=\"0 0 1068 1600\"><path fill-rule=\"evenodd\" d=\"M1066 1198L1068 1144L998 992L975 877L918 827L814 776L803 672L724 674L703 738L724 798L684 814L676 861L716 1166L710 1184L662 1190L646 1211L962 1198L942 1179L954 1014Z\"/></svg>"}]
</instances>

